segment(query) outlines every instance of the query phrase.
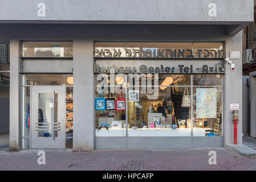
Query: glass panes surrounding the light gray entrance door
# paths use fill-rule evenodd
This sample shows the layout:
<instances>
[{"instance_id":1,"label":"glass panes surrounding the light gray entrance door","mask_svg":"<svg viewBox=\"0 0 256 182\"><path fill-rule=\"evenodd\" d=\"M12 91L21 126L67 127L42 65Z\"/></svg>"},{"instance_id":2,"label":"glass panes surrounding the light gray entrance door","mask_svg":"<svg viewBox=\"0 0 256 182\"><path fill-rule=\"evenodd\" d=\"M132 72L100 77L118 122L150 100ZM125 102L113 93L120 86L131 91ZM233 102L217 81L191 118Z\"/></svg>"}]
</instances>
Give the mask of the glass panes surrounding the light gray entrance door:
<instances>
[{"instance_id":1,"label":"glass panes surrounding the light gray entrance door","mask_svg":"<svg viewBox=\"0 0 256 182\"><path fill-rule=\"evenodd\" d=\"M27 74L23 76L23 148L30 148L30 85L49 85L49 86L62 86L66 85L66 148L73 147L73 76L72 75L59 75L59 74ZM44 94L40 94L40 104L45 100ZM50 96L52 96L50 94ZM58 96L58 95L57 95ZM55 98L57 98L57 96ZM59 101L60 102L60 101ZM56 103L56 101L55 101ZM39 108L42 106L39 105ZM57 109L57 108L56 108ZM55 110L55 117L58 113ZM46 118L46 111L42 110L42 115L44 119ZM57 119L55 118L55 121ZM30 121L31 122L31 121ZM42 137L43 132L40 131L40 136ZM51 135L49 135L51 137ZM55 136L56 137L56 136Z\"/></svg>"}]
</instances>

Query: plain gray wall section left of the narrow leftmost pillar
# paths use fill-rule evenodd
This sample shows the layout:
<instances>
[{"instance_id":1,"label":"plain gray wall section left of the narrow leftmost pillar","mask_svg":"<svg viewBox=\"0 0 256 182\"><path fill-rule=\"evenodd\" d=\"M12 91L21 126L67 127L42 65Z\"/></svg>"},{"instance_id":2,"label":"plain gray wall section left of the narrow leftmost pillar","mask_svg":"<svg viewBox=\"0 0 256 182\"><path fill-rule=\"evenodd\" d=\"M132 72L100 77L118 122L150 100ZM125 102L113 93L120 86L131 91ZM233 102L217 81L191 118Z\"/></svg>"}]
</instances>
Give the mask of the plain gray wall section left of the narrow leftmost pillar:
<instances>
[{"instance_id":1,"label":"plain gray wall section left of the narrow leftmost pillar","mask_svg":"<svg viewBox=\"0 0 256 182\"><path fill-rule=\"evenodd\" d=\"M0 134L9 133L9 98L0 97Z\"/></svg>"}]
</instances>

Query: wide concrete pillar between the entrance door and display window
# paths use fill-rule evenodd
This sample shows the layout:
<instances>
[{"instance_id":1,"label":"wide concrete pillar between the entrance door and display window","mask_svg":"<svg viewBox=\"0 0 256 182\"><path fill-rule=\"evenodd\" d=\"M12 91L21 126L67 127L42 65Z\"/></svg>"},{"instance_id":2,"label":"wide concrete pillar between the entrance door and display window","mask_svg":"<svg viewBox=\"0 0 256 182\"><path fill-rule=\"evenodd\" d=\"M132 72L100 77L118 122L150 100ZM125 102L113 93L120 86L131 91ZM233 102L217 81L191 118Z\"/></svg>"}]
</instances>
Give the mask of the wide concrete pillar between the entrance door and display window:
<instances>
[{"instance_id":1,"label":"wide concrete pillar between the entrance door and display window","mask_svg":"<svg viewBox=\"0 0 256 182\"><path fill-rule=\"evenodd\" d=\"M94 150L94 59L92 40L73 42L73 108L74 108L74 151Z\"/></svg>"}]
</instances>

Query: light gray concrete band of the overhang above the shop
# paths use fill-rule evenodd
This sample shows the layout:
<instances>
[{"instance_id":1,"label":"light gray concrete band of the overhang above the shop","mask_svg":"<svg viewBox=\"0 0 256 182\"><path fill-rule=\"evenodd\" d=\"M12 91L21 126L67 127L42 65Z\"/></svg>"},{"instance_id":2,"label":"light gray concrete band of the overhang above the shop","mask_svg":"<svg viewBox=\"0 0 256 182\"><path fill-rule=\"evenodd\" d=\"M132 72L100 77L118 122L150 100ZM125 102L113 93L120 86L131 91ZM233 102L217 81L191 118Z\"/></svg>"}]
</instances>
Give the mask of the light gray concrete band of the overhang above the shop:
<instances>
[{"instance_id":1,"label":"light gray concrete band of the overhang above the shop","mask_svg":"<svg viewBox=\"0 0 256 182\"><path fill-rule=\"evenodd\" d=\"M38 3L46 15L38 16ZM209 16L209 3L217 16ZM1 0L0 20L126 21L157 23L253 21L253 0Z\"/></svg>"}]
</instances>

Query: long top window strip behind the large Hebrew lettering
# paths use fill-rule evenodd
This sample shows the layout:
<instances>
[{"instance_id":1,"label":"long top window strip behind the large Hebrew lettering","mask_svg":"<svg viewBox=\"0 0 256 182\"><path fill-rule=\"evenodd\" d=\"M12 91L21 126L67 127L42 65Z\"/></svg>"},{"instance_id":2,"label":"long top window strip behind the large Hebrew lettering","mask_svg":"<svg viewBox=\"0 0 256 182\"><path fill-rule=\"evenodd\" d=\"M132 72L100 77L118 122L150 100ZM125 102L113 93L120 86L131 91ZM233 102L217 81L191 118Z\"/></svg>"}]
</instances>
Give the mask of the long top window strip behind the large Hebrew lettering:
<instances>
[{"instance_id":1,"label":"long top window strip behind the large Hebrew lettering","mask_svg":"<svg viewBox=\"0 0 256 182\"><path fill-rule=\"evenodd\" d=\"M222 42L95 42L95 57L225 57ZM163 52L162 52L163 51Z\"/></svg>"}]
</instances>

